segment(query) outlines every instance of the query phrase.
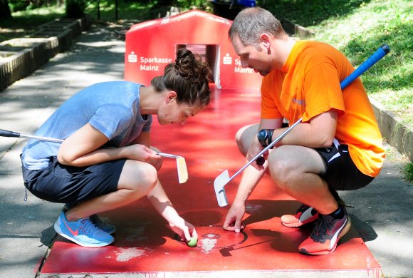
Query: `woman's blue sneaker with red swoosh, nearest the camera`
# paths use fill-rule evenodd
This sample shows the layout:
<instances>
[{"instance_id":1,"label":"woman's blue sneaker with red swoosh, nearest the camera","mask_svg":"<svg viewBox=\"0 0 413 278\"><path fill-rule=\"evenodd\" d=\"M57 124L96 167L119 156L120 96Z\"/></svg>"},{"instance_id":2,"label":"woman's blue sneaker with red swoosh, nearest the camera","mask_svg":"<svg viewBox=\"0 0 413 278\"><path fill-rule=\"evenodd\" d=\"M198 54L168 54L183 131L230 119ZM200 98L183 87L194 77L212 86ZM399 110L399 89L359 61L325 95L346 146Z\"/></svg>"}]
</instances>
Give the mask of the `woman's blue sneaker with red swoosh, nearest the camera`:
<instances>
[{"instance_id":1,"label":"woman's blue sneaker with red swoosh, nearest the camera","mask_svg":"<svg viewBox=\"0 0 413 278\"><path fill-rule=\"evenodd\" d=\"M89 217L69 222L66 219L65 212L61 212L54 228L62 237L66 237L83 247L103 247L115 240L107 232L103 232L103 230L96 227Z\"/></svg>"}]
</instances>

